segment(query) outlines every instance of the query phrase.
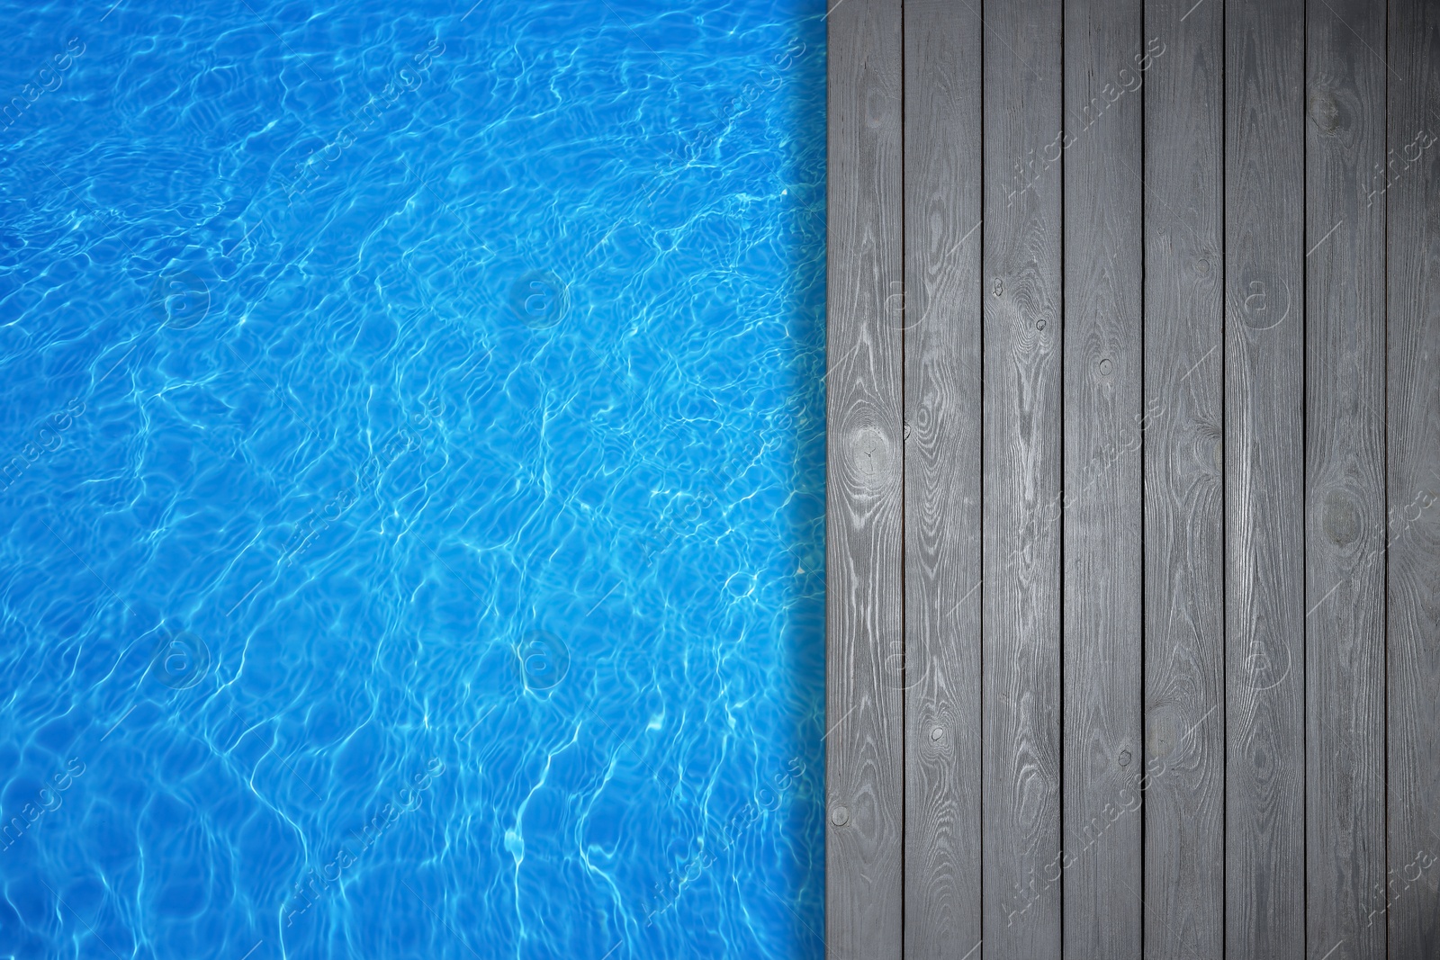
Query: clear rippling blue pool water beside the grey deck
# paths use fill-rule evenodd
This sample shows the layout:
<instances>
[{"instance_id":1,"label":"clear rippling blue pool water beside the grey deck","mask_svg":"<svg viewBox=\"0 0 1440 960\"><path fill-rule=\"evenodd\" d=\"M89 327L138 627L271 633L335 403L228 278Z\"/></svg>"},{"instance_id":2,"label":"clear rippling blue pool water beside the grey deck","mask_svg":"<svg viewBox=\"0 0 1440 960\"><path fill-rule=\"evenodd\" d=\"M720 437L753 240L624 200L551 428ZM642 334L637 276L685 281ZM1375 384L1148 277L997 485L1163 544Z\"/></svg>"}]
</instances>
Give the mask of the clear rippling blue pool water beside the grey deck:
<instances>
[{"instance_id":1,"label":"clear rippling blue pool water beside the grey deck","mask_svg":"<svg viewBox=\"0 0 1440 960\"><path fill-rule=\"evenodd\" d=\"M819 957L822 0L0 4L0 957Z\"/></svg>"}]
</instances>

